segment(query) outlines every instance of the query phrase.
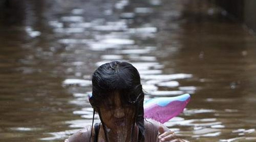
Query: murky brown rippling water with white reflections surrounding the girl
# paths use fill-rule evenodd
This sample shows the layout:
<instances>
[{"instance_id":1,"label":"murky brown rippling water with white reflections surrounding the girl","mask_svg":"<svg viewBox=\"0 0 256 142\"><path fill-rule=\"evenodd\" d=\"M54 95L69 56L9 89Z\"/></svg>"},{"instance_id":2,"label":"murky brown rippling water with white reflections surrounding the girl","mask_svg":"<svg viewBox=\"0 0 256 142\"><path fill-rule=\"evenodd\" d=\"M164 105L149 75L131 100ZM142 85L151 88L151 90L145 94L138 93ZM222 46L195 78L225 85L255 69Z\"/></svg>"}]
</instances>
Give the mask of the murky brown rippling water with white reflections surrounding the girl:
<instances>
[{"instance_id":1,"label":"murky brown rippling water with white reflections surrounding the girl","mask_svg":"<svg viewBox=\"0 0 256 142\"><path fill-rule=\"evenodd\" d=\"M256 37L207 2L1 2L0 142L63 141L91 125L91 74L113 60L139 70L146 100L192 95L166 123L181 138L255 142Z\"/></svg>"}]
</instances>

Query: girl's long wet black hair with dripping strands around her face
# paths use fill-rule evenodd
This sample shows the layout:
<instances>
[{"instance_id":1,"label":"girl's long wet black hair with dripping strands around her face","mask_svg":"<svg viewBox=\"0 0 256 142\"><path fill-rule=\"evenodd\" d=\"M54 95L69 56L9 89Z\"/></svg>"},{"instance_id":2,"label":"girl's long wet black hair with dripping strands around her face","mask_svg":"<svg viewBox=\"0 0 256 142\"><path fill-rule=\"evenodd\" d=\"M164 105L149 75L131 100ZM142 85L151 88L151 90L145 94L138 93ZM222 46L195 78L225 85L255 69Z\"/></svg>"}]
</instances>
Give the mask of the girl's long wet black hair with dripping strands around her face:
<instances>
[{"instance_id":1,"label":"girl's long wet black hair with dripping strands around her face","mask_svg":"<svg viewBox=\"0 0 256 142\"><path fill-rule=\"evenodd\" d=\"M93 92L89 101L94 108L94 113L95 110L99 110L99 106L104 103L103 100L108 98L111 92L121 92L119 93L121 95L121 102L134 106L135 108L134 122L139 128L138 142L144 142L144 93L142 91L138 70L128 62L113 61L105 63L98 67L98 69L93 73L92 86ZM98 111L98 113L103 124L106 137L105 124L102 121L100 111ZM132 126L132 141L133 135L134 125Z\"/></svg>"}]
</instances>

